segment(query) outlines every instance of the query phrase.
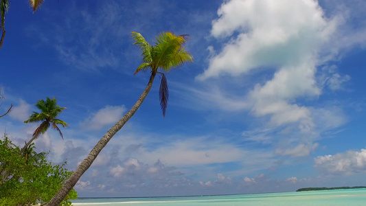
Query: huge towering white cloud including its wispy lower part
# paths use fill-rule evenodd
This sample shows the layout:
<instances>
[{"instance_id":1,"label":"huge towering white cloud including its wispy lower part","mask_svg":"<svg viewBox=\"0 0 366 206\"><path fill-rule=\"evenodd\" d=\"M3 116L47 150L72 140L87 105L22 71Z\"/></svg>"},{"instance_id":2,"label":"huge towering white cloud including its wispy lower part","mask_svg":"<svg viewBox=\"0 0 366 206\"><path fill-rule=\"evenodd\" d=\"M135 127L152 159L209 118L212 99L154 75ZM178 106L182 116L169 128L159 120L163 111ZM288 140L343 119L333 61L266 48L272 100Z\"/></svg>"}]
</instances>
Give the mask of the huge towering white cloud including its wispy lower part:
<instances>
[{"instance_id":1,"label":"huge towering white cloud including its wispy lower part","mask_svg":"<svg viewBox=\"0 0 366 206\"><path fill-rule=\"evenodd\" d=\"M326 89L343 89L350 80L350 76L342 75L335 66L327 65L339 57L341 49L365 42L365 38L344 41L352 33L340 32L346 22L345 12L325 14L314 0L224 1L211 27L211 36L224 44L220 51L209 47L209 66L196 79L219 76L241 79L255 76L258 71L269 71L267 78L254 82L253 89L249 92L244 89L242 97L236 98L241 107L230 108L249 110L255 117L264 119L267 124L263 127L272 131L257 133L246 137L247 140L275 144L272 137L290 138L291 141L276 144L275 153L307 156L317 148L314 141L321 133L347 120L340 107L317 108L303 101L316 100ZM214 94L218 104L235 102L228 101L230 94L220 95L220 91Z\"/></svg>"}]
</instances>

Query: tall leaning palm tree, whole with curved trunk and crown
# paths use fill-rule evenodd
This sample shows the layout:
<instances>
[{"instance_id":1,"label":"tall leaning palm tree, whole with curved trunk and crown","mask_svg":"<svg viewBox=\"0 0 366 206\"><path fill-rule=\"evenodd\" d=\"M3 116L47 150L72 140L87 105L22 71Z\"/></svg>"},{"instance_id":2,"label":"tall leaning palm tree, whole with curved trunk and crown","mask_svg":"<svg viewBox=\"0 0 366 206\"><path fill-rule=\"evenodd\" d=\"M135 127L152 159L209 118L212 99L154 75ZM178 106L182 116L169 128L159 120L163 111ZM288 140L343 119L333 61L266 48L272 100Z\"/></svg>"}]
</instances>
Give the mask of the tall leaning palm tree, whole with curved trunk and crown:
<instances>
[{"instance_id":1,"label":"tall leaning palm tree, whole with curved trunk and crown","mask_svg":"<svg viewBox=\"0 0 366 206\"><path fill-rule=\"evenodd\" d=\"M187 35L176 36L171 32L163 32L156 38L155 45L150 45L141 34L133 32L132 37L134 44L141 48L142 64L137 67L135 73L141 70L150 69L150 80L146 86L144 92L141 94L135 105L124 115L119 121L110 128L106 134L98 141L98 144L94 146L89 155L78 165L75 172L62 186L54 198L47 203L47 205L59 205L61 201L67 196L69 191L78 182L82 174L88 170L91 163L97 158L100 151L106 146L109 140L112 139L113 135L119 131L124 124L132 117L142 102L144 102L148 95L152 82L157 74L162 76L161 87L160 87L160 104L165 115L165 109L168 102L168 86L163 72L170 71L170 69L179 67L185 62L193 62L193 57L188 53L184 47L185 41L187 41ZM159 70L160 69L160 70Z\"/></svg>"}]
</instances>

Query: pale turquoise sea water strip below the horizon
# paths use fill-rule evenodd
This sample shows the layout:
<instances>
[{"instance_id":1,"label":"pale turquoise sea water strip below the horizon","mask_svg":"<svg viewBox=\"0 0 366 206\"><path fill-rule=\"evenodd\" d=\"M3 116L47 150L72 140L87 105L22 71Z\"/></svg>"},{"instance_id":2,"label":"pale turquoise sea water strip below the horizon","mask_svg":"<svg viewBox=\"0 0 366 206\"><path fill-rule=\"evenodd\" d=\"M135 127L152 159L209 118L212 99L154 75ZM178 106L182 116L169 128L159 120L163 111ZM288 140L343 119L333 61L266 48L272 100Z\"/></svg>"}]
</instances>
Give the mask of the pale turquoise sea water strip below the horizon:
<instances>
[{"instance_id":1,"label":"pale turquoise sea water strip below the horizon","mask_svg":"<svg viewBox=\"0 0 366 206\"><path fill-rule=\"evenodd\" d=\"M366 205L366 190L326 190L222 196L189 196L157 198L80 198L73 205L82 206L334 206Z\"/></svg>"}]
</instances>

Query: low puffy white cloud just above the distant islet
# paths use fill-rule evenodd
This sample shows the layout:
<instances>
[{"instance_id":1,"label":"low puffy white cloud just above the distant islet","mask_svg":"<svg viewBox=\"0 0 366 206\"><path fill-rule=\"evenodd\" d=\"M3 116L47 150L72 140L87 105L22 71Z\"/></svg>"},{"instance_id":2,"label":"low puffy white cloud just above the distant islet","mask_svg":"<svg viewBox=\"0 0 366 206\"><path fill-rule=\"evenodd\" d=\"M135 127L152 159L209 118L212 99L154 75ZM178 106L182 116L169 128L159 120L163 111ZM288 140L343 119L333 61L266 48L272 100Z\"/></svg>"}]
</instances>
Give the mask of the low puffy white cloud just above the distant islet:
<instances>
[{"instance_id":1,"label":"low puffy white cloud just above the distant islet","mask_svg":"<svg viewBox=\"0 0 366 206\"><path fill-rule=\"evenodd\" d=\"M350 175L366 172L366 149L314 158L314 166L323 174Z\"/></svg>"}]
</instances>

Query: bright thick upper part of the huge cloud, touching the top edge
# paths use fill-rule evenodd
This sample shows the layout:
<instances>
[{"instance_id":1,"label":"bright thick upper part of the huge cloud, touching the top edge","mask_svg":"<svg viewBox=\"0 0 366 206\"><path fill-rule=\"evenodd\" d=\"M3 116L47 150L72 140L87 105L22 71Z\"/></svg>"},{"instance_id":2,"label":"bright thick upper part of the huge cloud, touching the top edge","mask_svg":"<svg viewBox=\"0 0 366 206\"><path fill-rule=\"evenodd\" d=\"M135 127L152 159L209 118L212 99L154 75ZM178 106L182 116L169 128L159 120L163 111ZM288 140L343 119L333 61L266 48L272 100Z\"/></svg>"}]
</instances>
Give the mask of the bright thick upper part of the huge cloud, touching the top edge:
<instances>
[{"instance_id":1,"label":"bright thick upper part of the huge cloud, touching the top edge","mask_svg":"<svg viewBox=\"0 0 366 206\"><path fill-rule=\"evenodd\" d=\"M297 66L313 58L334 31L334 21L325 19L312 0L231 0L222 4L218 15L212 36L239 34L211 58L201 80L222 73L238 76L258 67Z\"/></svg>"}]
</instances>

